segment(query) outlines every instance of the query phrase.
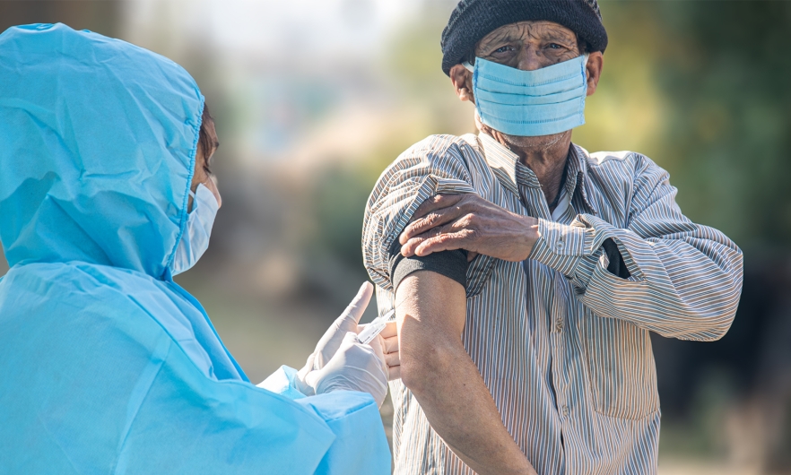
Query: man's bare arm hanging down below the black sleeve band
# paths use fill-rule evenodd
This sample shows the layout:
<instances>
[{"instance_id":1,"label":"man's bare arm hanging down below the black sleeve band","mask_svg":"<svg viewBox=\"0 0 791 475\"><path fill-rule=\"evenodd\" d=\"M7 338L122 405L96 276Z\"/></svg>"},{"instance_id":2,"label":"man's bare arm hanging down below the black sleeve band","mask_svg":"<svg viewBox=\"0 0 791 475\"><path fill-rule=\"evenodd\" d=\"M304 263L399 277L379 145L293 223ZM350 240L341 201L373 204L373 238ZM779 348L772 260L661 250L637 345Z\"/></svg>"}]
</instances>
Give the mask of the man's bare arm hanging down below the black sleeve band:
<instances>
[{"instance_id":1,"label":"man's bare arm hanging down below the black sleeve band","mask_svg":"<svg viewBox=\"0 0 791 475\"><path fill-rule=\"evenodd\" d=\"M491 393L460 339L464 289L433 272L417 274L420 281L410 276L397 296L404 302L398 311L404 384L420 402L431 427L474 471L482 475L535 473L503 426ZM448 328L432 319L437 312L459 311L460 328Z\"/></svg>"}]
</instances>

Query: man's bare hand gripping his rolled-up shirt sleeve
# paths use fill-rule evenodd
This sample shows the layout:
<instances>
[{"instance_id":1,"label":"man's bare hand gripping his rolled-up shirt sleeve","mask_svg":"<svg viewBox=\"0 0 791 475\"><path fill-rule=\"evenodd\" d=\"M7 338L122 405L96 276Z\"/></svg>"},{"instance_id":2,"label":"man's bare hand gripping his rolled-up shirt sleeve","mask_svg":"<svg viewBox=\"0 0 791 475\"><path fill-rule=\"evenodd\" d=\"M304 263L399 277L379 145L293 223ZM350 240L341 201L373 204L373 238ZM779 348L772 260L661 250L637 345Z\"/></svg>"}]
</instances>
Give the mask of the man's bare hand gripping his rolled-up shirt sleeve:
<instances>
[{"instance_id":1,"label":"man's bare hand gripping his rolled-up shirt sleeve","mask_svg":"<svg viewBox=\"0 0 791 475\"><path fill-rule=\"evenodd\" d=\"M401 254L465 249L469 259L491 255L524 261L540 238L538 220L509 212L477 194L437 194L421 204L399 237Z\"/></svg>"}]
</instances>

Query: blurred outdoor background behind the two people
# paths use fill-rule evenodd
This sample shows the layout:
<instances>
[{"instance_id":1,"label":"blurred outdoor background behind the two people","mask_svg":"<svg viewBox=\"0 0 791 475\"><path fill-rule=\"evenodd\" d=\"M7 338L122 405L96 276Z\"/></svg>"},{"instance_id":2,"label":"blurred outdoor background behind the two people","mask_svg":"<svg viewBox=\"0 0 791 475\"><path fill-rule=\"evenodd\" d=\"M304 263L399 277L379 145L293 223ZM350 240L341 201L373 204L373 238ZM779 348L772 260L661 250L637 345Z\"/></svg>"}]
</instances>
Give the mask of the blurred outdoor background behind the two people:
<instances>
[{"instance_id":1,"label":"blurred outdoor background behind the two people","mask_svg":"<svg viewBox=\"0 0 791 475\"><path fill-rule=\"evenodd\" d=\"M0 0L0 30L64 22L196 77L222 142L223 207L212 247L177 280L257 382L301 367L366 280L362 215L388 163L429 134L474 132L439 68L455 4ZM745 255L721 341L654 338L660 473L791 473L791 3L600 4L610 46L574 142L645 153L682 210Z\"/></svg>"}]
</instances>

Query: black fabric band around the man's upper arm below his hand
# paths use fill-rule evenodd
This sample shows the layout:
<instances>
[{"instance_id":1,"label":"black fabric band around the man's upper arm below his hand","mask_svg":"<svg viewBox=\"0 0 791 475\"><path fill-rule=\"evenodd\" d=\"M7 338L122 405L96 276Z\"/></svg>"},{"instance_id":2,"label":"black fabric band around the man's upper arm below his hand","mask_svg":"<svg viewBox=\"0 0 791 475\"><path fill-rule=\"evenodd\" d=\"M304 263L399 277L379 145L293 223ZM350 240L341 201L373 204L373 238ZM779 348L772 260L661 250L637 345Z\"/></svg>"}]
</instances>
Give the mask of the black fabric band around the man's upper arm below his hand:
<instances>
[{"instance_id":1,"label":"black fabric band around the man's upper arm below his hand","mask_svg":"<svg viewBox=\"0 0 791 475\"><path fill-rule=\"evenodd\" d=\"M389 249L390 281L393 283L393 290L398 289L398 284L409 274L418 271L431 271L444 275L449 279L462 284L467 288L467 252L463 249L455 251L442 251L425 255L413 255L404 257L401 255L401 243L396 238Z\"/></svg>"}]
</instances>

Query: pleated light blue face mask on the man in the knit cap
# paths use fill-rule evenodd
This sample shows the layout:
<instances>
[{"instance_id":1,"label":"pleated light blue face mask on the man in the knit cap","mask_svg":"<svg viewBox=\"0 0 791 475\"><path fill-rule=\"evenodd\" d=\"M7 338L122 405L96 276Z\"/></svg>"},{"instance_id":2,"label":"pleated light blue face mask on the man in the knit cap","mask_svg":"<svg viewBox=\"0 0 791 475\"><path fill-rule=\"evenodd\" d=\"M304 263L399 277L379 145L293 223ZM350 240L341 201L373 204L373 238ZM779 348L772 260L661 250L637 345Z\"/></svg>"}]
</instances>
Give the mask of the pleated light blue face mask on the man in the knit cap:
<instances>
[{"instance_id":1,"label":"pleated light blue face mask on the man in the knit cap","mask_svg":"<svg viewBox=\"0 0 791 475\"><path fill-rule=\"evenodd\" d=\"M585 124L587 55L522 71L475 58L475 107L481 122L508 135L535 137Z\"/></svg>"}]
</instances>

